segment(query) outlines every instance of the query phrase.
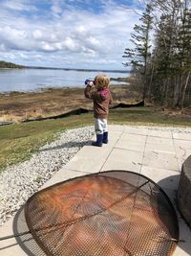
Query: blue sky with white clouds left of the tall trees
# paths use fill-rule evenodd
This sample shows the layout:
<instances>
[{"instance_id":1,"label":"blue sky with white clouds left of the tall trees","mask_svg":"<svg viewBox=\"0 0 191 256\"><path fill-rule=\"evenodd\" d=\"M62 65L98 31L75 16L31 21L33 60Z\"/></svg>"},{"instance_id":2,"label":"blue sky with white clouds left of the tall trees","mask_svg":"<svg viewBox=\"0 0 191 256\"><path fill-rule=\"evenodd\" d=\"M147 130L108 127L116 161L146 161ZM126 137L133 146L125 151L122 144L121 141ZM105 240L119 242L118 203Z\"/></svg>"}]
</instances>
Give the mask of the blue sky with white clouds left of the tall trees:
<instances>
[{"instance_id":1,"label":"blue sky with white clouds left of the tall trees","mask_svg":"<svg viewBox=\"0 0 191 256\"><path fill-rule=\"evenodd\" d=\"M0 0L0 60L123 70L141 12L140 0Z\"/></svg>"}]
</instances>

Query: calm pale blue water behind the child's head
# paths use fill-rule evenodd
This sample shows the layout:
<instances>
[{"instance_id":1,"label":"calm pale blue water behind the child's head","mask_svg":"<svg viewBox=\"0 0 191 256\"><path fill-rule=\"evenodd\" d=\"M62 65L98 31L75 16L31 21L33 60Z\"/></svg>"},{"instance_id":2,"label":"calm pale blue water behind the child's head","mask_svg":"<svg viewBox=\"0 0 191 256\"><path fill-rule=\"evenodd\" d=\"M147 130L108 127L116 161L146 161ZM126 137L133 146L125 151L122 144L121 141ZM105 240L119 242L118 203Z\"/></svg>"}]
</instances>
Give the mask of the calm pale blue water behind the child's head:
<instances>
[{"instance_id":1,"label":"calm pale blue water behind the child's head","mask_svg":"<svg viewBox=\"0 0 191 256\"><path fill-rule=\"evenodd\" d=\"M86 79L94 79L97 71L56 69L0 69L0 92L36 91L48 87L84 87ZM106 72L104 72L106 73ZM110 78L125 78L128 73L108 72ZM114 84L115 81L112 81Z\"/></svg>"}]
</instances>

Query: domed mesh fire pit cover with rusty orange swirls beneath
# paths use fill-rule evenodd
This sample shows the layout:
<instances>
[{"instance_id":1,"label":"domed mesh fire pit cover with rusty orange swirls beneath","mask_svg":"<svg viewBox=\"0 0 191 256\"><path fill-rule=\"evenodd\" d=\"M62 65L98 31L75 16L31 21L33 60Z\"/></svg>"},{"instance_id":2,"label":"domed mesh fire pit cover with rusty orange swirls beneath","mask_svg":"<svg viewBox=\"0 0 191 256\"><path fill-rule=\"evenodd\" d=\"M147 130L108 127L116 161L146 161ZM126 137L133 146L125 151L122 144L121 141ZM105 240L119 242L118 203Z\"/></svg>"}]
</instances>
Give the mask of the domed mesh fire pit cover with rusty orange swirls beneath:
<instances>
[{"instance_id":1,"label":"domed mesh fire pit cover with rusty orange swirls beneath","mask_svg":"<svg viewBox=\"0 0 191 256\"><path fill-rule=\"evenodd\" d=\"M164 256L179 240L170 200L152 180L131 172L55 184L27 201L25 216L47 255Z\"/></svg>"}]
</instances>

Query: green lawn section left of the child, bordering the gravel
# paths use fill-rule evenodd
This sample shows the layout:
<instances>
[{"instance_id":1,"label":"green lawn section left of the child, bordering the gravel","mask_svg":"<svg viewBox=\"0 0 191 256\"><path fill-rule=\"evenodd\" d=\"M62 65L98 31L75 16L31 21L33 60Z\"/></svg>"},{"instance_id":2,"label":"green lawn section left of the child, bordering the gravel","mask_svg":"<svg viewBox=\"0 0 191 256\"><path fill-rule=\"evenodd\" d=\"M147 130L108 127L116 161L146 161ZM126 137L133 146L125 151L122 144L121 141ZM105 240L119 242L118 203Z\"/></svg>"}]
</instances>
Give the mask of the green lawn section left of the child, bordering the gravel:
<instances>
[{"instance_id":1,"label":"green lawn section left of the child, bordering the gravel","mask_svg":"<svg viewBox=\"0 0 191 256\"><path fill-rule=\"evenodd\" d=\"M7 165L29 159L40 146L56 139L61 131L93 123L92 115L81 117L71 116L0 127L0 171Z\"/></svg>"}]
</instances>

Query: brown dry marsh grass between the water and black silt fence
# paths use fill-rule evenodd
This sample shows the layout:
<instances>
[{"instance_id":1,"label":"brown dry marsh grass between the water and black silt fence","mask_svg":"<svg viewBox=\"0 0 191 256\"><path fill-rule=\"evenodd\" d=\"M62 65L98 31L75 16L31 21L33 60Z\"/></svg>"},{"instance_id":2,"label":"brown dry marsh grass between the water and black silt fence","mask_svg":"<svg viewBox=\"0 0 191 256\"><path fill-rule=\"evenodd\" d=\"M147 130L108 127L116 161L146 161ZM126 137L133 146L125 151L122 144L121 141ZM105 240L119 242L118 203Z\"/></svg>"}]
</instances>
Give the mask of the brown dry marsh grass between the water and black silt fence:
<instances>
[{"instance_id":1,"label":"brown dry marsh grass between the water and black silt fence","mask_svg":"<svg viewBox=\"0 0 191 256\"><path fill-rule=\"evenodd\" d=\"M135 103L141 98L128 85L114 85L111 90L114 105ZM0 94L0 122L18 123L57 116L79 107L92 109L92 101L85 99L83 88L49 88L41 92Z\"/></svg>"}]
</instances>

